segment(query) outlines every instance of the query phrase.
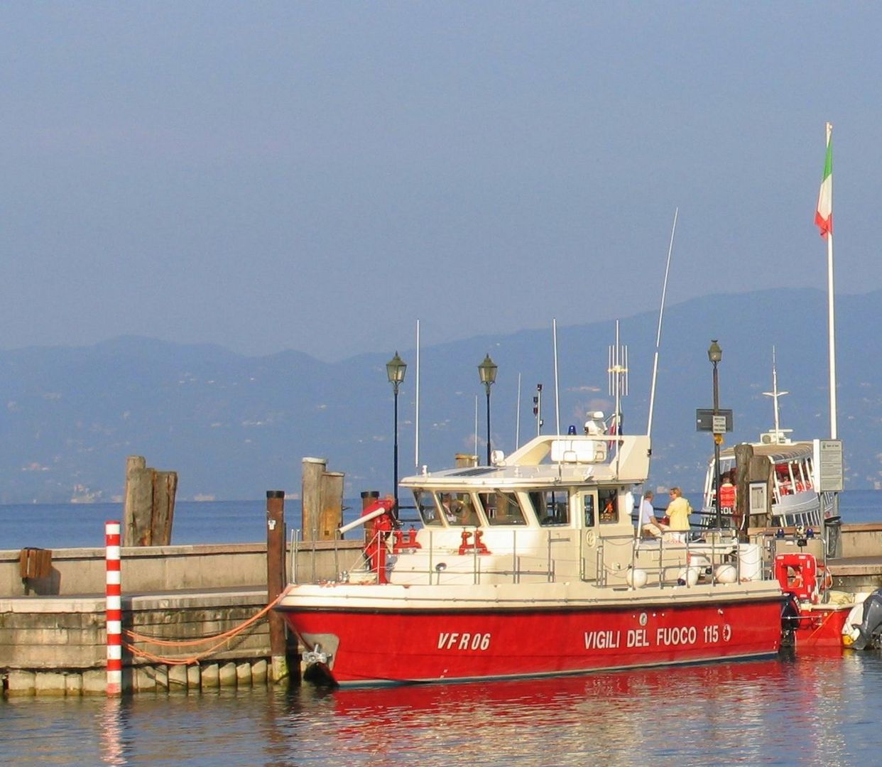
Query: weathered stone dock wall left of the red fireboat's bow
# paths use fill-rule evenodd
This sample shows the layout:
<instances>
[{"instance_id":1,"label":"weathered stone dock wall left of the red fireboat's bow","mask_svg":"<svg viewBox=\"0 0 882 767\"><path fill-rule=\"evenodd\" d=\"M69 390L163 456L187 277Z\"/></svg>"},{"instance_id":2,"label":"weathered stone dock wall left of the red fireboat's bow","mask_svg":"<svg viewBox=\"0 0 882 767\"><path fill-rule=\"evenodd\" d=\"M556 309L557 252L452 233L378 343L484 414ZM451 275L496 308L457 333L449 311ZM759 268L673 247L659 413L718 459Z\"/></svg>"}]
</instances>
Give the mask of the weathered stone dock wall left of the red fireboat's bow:
<instances>
[{"instance_id":1,"label":"weathered stone dock wall left of the red fireboat's bow","mask_svg":"<svg viewBox=\"0 0 882 767\"><path fill-rule=\"evenodd\" d=\"M298 580L333 578L355 566L361 547L358 540L301 544L293 556L288 551L286 571L295 563ZM4 694L103 694L104 550L54 551L49 574L26 582L19 554L0 551ZM123 641L130 645L124 691L276 681L265 616L240 628L267 606L265 544L123 548L122 562ZM289 651L296 654L296 646Z\"/></svg>"}]
</instances>

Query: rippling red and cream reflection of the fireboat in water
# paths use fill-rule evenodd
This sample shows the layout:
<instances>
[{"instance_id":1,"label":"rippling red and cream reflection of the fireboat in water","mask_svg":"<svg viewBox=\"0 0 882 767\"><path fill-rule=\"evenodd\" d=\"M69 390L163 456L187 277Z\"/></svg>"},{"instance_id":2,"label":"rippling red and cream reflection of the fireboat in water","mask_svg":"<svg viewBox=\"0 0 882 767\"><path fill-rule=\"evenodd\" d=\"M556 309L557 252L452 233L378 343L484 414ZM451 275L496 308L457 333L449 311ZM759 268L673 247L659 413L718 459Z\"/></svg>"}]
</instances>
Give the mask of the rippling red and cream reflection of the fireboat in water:
<instances>
[{"instance_id":1,"label":"rippling red and cream reflection of the fireboat in water","mask_svg":"<svg viewBox=\"0 0 882 767\"><path fill-rule=\"evenodd\" d=\"M324 692L304 686L295 696L300 704L321 698L336 753L356 763L404 756L413 763L638 764L650 756L796 763L810 754L836 763L861 748L846 742L840 715L848 709L850 666L866 658L831 650L798 661L543 680Z\"/></svg>"}]
</instances>

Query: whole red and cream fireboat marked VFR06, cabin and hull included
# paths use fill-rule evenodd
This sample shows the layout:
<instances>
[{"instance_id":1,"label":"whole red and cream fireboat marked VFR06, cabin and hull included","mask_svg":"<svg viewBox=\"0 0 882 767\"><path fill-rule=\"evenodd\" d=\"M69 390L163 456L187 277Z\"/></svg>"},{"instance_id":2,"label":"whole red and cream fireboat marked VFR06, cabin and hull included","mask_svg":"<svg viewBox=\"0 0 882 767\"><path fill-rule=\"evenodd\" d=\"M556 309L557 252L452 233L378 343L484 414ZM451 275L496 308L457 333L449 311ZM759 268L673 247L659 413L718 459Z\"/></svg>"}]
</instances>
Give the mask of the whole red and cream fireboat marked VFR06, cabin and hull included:
<instances>
[{"instance_id":1,"label":"whole red and cream fireboat marked VFR06, cabin and hull included","mask_svg":"<svg viewBox=\"0 0 882 767\"><path fill-rule=\"evenodd\" d=\"M640 540L648 436L537 436L490 466L408 477L419 530L366 510L360 570L276 609L308 674L466 681L771 656L784 595L733 532Z\"/></svg>"}]
</instances>

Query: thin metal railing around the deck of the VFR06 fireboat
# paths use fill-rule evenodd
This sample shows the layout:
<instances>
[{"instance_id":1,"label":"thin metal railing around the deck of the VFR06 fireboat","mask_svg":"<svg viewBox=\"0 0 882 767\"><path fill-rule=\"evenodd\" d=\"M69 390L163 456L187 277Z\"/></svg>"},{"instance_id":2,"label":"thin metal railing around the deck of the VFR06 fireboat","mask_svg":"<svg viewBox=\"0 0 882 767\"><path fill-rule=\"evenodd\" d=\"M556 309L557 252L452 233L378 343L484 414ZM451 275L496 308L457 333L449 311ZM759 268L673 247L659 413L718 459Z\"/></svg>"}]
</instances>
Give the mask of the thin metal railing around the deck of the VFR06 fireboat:
<instances>
[{"instance_id":1,"label":"thin metal railing around the deck of the VFR06 fireboat","mask_svg":"<svg viewBox=\"0 0 882 767\"><path fill-rule=\"evenodd\" d=\"M474 532L477 528L463 540L474 541ZM490 547L483 545L480 537L477 545L473 542L455 547L449 532L430 530L424 548L407 547L407 540L396 547L392 537L369 540L364 547L355 540L304 541L300 533L291 533L291 583L392 580L411 585L478 585L581 580L601 587L632 589L640 585L642 576L635 577L639 570L646 574L647 585L662 587L696 585L686 570L690 567L697 569L696 580L700 583L715 585L719 568L726 564L735 568L734 577L740 581L745 556L762 558L761 563L750 562L748 577L763 577L768 570L766 552L740 543L731 530L705 531L700 539L692 533L683 542L635 540L631 534L604 535L594 545L586 542L585 531L572 528L497 530L493 531ZM444 535L444 540L437 540L438 535ZM578 546L573 545L576 540ZM400 560L402 554L416 556Z\"/></svg>"}]
</instances>

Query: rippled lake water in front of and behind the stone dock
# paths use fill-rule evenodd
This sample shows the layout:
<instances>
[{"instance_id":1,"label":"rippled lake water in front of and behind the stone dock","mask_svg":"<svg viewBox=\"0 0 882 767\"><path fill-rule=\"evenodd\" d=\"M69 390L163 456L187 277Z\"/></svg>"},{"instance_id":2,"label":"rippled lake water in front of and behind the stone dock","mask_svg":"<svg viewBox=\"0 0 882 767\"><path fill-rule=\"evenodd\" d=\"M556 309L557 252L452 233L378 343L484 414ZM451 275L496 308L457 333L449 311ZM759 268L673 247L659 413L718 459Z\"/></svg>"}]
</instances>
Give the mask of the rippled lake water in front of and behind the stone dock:
<instances>
[{"instance_id":1,"label":"rippled lake water in front of and behind the stone dock","mask_svg":"<svg viewBox=\"0 0 882 767\"><path fill-rule=\"evenodd\" d=\"M352 516L355 506L347 515ZM299 504L286 503L288 525ZM882 492L841 495L882 519ZM0 507L0 548L103 545L116 504ZM179 503L176 543L262 540L265 501ZM370 641L370 640L369 640ZM377 641L379 641L377 639ZM390 662L400 637L384 637ZM549 652L554 652L549 644ZM882 654L542 681L0 699L0 758L32 764L875 764Z\"/></svg>"}]
</instances>

